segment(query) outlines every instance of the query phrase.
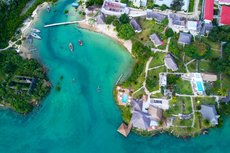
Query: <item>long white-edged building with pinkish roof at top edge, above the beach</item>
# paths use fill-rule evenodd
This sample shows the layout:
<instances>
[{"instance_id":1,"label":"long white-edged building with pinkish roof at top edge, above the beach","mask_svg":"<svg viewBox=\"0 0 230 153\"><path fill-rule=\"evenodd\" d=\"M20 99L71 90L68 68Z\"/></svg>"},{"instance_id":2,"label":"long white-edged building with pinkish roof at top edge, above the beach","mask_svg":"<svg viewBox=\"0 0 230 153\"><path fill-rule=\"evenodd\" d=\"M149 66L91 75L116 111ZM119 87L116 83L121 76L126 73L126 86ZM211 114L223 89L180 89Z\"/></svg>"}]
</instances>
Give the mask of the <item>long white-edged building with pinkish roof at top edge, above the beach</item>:
<instances>
[{"instance_id":1,"label":"long white-edged building with pinkish roof at top edge, above the beach","mask_svg":"<svg viewBox=\"0 0 230 153\"><path fill-rule=\"evenodd\" d=\"M129 14L129 8L126 4L115 2L113 0L105 0L101 12L106 15L121 16L122 14Z\"/></svg>"}]
</instances>

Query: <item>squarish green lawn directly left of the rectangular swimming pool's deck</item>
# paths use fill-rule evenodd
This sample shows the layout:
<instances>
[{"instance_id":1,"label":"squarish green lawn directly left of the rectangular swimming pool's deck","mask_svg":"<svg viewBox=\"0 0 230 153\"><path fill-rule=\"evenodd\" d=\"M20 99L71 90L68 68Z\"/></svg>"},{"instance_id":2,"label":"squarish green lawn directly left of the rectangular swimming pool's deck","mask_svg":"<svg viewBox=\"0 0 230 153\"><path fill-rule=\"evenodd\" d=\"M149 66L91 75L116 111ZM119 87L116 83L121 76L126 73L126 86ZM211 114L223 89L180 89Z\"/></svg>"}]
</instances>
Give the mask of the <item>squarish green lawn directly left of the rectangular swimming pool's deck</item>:
<instances>
[{"instance_id":1,"label":"squarish green lawn directly left of the rectangular swimming pool's deck","mask_svg":"<svg viewBox=\"0 0 230 153\"><path fill-rule=\"evenodd\" d=\"M178 94L193 95L192 87L189 81L178 79L176 81L175 91Z\"/></svg>"}]
</instances>

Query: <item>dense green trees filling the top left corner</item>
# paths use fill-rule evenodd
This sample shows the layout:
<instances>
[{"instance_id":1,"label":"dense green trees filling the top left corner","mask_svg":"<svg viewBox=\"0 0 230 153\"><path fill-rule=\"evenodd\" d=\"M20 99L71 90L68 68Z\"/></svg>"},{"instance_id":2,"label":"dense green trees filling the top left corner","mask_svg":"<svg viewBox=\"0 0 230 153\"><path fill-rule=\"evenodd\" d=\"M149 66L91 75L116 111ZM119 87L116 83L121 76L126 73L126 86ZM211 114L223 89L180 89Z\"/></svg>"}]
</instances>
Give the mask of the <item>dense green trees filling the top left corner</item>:
<instances>
[{"instance_id":1,"label":"dense green trees filling the top left corner","mask_svg":"<svg viewBox=\"0 0 230 153\"><path fill-rule=\"evenodd\" d=\"M12 4L9 6L2 1L0 2L0 48L7 46L7 42L14 36L17 28L22 25L26 18L31 16L39 4L45 1L56 2L57 0L36 0L26 13L19 15L29 1L30 0L15 0L12 1Z\"/></svg>"}]
</instances>

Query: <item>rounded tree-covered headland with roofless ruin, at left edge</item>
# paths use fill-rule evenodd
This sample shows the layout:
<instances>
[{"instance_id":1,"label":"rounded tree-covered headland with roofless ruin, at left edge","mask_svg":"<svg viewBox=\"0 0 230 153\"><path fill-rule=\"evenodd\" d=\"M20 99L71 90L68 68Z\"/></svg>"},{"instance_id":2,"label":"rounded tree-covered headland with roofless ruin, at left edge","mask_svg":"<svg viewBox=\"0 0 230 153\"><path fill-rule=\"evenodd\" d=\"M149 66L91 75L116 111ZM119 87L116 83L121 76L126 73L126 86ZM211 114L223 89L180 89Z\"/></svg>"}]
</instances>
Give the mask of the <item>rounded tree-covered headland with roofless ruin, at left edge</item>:
<instances>
[{"instance_id":1,"label":"rounded tree-covered headland with roofless ruin, at left edge","mask_svg":"<svg viewBox=\"0 0 230 153\"><path fill-rule=\"evenodd\" d=\"M34 78L33 87L17 76ZM38 62L25 60L13 50L0 52L0 103L28 113L49 89L45 69Z\"/></svg>"}]
</instances>

